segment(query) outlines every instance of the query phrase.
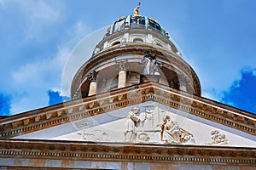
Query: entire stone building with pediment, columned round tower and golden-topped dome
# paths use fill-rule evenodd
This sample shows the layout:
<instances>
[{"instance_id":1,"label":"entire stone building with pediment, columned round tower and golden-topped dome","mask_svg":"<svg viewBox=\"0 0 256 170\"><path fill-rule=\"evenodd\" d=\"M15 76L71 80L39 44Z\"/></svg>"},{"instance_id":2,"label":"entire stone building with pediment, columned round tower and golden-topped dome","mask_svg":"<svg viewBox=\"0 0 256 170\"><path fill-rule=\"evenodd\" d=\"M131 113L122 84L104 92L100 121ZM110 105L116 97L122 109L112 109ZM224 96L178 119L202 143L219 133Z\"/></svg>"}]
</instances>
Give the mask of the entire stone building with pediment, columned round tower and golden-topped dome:
<instances>
[{"instance_id":1,"label":"entire stone building with pediment, columned round tower and golden-topped dome","mask_svg":"<svg viewBox=\"0 0 256 170\"><path fill-rule=\"evenodd\" d=\"M72 101L0 119L1 169L256 168L256 116L202 98L166 31L135 11L79 69Z\"/></svg>"}]
</instances>

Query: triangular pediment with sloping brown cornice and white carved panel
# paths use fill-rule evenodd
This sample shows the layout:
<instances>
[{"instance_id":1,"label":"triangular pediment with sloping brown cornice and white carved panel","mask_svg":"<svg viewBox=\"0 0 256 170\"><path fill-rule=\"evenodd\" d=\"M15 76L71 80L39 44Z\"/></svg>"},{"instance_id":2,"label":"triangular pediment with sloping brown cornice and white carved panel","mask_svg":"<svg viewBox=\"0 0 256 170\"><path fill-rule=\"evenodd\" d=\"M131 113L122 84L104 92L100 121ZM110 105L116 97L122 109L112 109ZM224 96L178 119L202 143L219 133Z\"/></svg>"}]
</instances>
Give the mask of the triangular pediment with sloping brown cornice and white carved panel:
<instances>
[{"instance_id":1,"label":"triangular pediment with sloping brown cornice and white carved panel","mask_svg":"<svg viewBox=\"0 0 256 170\"><path fill-rule=\"evenodd\" d=\"M238 117L252 123L255 122L253 116L171 90L149 83L140 88L114 91L108 96L102 94L49 107L49 110L38 111L38 115L34 112L21 114L16 120L14 116L5 122L5 126L10 124L16 128L16 134L3 133L2 136L86 142L255 146L255 127L239 120L232 122L233 117ZM135 108L139 109L137 114L133 111ZM19 131L20 121L23 127L26 124L22 131ZM4 126L4 122L2 124ZM25 133L26 130L30 132Z\"/></svg>"}]
</instances>

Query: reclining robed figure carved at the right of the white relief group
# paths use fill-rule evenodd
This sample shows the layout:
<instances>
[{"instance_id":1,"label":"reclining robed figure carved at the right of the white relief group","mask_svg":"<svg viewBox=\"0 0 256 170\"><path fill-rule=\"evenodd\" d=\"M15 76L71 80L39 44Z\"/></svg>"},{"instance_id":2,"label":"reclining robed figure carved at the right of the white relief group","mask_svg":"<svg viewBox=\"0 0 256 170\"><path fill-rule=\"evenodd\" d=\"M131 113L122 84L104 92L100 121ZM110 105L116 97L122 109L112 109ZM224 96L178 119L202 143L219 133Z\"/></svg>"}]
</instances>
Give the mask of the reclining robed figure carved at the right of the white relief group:
<instances>
[{"instance_id":1,"label":"reclining robed figure carved at the right of the white relief group","mask_svg":"<svg viewBox=\"0 0 256 170\"><path fill-rule=\"evenodd\" d=\"M173 122L170 116L165 116L161 127L161 141L171 144L190 143L195 144L193 134L179 127L177 122Z\"/></svg>"}]
</instances>

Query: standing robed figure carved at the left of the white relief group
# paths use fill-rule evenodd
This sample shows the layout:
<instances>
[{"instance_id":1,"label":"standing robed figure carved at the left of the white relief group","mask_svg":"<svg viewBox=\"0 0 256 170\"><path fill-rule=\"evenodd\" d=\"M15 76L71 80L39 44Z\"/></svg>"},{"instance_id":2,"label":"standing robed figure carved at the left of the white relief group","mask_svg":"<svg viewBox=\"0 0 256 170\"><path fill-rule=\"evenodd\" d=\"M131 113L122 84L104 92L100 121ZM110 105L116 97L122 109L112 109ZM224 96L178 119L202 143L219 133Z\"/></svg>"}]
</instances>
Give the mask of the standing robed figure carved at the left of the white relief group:
<instances>
[{"instance_id":1,"label":"standing robed figure carved at the left of the white relief group","mask_svg":"<svg viewBox=\"0 0 256 170\"><path fill-rule=\"evenodd\" d=\"M138 108L133 108L129 111L127 121L125 122L125 142L134 142L137 140L137 123L140 122L137 114L139 113Z\"/></svg>"}]
</instances>

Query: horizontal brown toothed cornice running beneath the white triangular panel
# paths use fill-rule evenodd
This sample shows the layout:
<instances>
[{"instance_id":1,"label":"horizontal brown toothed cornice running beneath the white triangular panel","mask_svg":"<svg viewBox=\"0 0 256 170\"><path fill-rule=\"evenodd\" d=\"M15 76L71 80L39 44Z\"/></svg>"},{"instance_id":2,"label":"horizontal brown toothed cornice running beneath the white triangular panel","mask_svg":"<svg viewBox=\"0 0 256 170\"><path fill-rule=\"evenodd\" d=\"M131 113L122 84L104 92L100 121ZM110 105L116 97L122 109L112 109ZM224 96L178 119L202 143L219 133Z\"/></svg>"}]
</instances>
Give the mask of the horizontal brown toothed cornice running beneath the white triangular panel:
<instances>
[{"instance_id":1,"label":"horizontal brown toothed cornice running beneath the white triangular panel","mask_svg":"<svg viewBox=\"0 0 256 170\"><path fill-rule=\"evenodd\" d=\"M252 148L168 144L88 143L58 140L0 140L0 157L77 161L143 161L256 165Z\"/></svg>"}]
</instances>

